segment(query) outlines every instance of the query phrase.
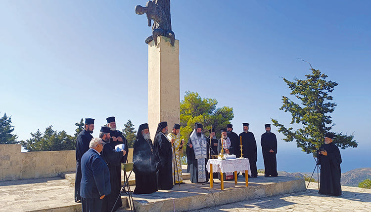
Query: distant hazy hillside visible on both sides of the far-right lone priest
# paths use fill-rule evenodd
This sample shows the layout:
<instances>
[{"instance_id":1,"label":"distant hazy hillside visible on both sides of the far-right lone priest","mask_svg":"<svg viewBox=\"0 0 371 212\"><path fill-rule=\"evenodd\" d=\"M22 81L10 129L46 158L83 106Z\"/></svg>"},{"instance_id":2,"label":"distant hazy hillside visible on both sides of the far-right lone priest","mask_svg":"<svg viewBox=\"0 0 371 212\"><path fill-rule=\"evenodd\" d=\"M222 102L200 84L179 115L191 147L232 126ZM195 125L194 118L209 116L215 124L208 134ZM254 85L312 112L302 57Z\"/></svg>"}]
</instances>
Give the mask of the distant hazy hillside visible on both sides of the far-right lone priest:
<instances>
[{"instance_id":1,"label":"distant hazy hillside visible on both sides of the far-right lone priest","mask_svg":"<svg viewBox=\"0 0 371 212\"><path fill-rule=\"evenodd\" d=\"M320 171L321 173L321 171ZM287 177L304 177L307 175L311 177L312 173L309 172L295 172L289 173L284 171L278 171L279 176L287 176ZM317 170L313 175L313 178L317 180ZM365 179L371 179L371 168L358 168L350 170L349 172L341 174L341 184L346 186L355 186L358 187L358 183Z\"/></svg>"}]
</instances>

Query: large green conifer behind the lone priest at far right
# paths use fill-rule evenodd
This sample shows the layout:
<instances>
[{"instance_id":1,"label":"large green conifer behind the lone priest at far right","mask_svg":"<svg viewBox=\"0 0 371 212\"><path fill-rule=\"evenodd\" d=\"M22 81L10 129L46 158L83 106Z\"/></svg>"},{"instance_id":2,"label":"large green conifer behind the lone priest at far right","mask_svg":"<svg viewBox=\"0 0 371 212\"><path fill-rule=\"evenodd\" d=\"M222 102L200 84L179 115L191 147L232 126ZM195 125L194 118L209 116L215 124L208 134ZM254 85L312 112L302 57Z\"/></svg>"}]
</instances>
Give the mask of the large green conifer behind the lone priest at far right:
<instances>
[{"instance_id":1,"label":"large green conifer behind the lone priest at far right","mask_svg":"<svg viewBox=\"0 0 371 212\"><path fill-rule=\"evenodd\" d=\"M326 81L327 75L320 70L311 69L312 74L307 74L306 80L295 78L289 81L283 78L293 95L299 103L295 103L288 97L282 96L283 105L279 108L290 112L292 119L290 124L299 124L301 127L293 130L286 128L278 120L272 119L273 125L278 127L278 132L286 138L283 141L296 141L297 147L306 153L315 152L323 143L325 134L331 132L331 116L335 109L333 97L329 95L338 83L331 80ZM358 143L353 141L354 135L343 135L334 133L333 142L340 148L357 147Z\"/></svg>"}]
</instances>

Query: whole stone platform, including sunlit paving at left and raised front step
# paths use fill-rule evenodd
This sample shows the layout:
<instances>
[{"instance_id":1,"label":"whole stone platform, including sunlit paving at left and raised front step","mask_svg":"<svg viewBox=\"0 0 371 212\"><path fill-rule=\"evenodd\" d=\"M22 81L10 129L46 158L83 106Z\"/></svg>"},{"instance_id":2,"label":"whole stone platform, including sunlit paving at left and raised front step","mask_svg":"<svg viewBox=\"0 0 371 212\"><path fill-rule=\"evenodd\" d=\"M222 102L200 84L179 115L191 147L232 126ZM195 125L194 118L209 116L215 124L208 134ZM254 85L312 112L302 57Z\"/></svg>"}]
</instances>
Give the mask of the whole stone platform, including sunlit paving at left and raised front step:
<instances>
[{"instance_id":1,"label":"whole stone platform, including sunlit paving at left and raised front step","mask_svg":"<svg viewBox=\"0 0 371 212\"><path fill-rule=\"evenodd\" d=\"M189 178L189 174L184 174ZM65 176L68 178L68 174ZM134 194L136 211L189 211L305 190L304 179L292 177L260 175L257 178L249 178L249 187L246 187L244 177L240 176L237 185L234 185L234 181L225 181L224 191L220 190L218 179L214 179L213 189L210 188L210 184L184 181L181 189L176 185L169 191L159 190L149 195ZM135 185L132 185L131 189L134 188ZM74 185L71 179L49 177L3 181L0 182L0 193L2 194L0 211L81 212L81 204L73 201ZM125 194L122 195L122 202L124 207L120 208L119 212L128 211L128 198Z\"/></svg>"}]
</instances>

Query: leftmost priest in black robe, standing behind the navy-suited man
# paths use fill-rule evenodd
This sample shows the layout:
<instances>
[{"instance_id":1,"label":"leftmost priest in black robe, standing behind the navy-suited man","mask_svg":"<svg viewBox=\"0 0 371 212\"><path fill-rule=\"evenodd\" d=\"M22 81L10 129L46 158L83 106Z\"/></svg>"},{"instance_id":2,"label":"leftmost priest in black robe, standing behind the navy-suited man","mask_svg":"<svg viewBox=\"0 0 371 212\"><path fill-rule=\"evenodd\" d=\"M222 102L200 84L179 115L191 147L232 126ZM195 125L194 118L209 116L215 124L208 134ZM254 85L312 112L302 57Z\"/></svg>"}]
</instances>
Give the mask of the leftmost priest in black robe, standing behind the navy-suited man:
<instances>
[{"instance_id":1,"label":"leftmost priest in black robe, standing behind the navy-suited man","mask_svg":"<svg viewBox=\"0 0 371 212\"><path fill-rule=\"evenodd\" d=\"M80 183L81 183L81 157L89 150L89 143L92 141L91 135L94 130L94 119L86 118L84 130L76 138L76 174L75 174L75 202L81 202Z\"/></svg>"}]
</instances>

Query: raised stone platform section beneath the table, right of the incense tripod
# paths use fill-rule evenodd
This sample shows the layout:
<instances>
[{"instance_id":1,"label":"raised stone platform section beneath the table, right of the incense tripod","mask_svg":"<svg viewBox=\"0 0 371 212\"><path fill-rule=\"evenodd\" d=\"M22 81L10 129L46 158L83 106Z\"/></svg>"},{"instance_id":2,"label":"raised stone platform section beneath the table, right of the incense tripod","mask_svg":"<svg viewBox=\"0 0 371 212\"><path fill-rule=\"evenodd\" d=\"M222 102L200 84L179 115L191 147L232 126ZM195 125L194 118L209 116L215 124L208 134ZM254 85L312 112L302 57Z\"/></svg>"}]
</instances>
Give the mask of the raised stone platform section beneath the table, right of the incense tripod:
<instances>
[{"instance_id":1,"label":"raised stone platform section beneath the table, right of the incense tripod","mask_svg":"<svg viewBox=\"0 0 371 212\"><path fill-rule=\"evenodd\" d=\"M244 177L240 176L237 185L234 185L234 181L225 182L224 190L217 184L219 180L214 180L213 189L209 183L203 185L184 181L181 189L175 185L171 190L133 194L136 211L182 212L305 190L304 179L295 177L259 176L250 178L246 187Z\"/></svg>"}]
</instances>

